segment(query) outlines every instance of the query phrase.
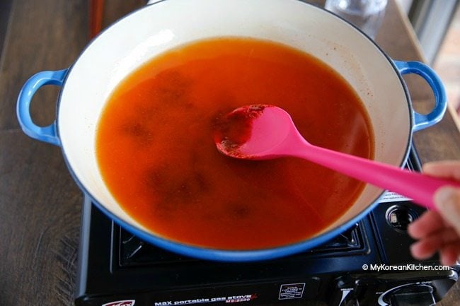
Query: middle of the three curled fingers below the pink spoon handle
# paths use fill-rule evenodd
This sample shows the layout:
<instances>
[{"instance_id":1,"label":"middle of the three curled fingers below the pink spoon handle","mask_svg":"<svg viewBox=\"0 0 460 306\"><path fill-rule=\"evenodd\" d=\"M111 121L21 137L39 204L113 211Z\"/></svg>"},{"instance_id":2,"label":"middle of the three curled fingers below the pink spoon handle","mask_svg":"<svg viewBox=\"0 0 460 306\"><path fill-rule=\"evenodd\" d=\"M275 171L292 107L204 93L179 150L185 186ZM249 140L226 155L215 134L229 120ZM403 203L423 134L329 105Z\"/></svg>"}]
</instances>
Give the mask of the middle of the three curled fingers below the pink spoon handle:
<instances>
[{"instance_id":1,"label":"middle of the three curled fingers below the pink spoon handle","mask_svg":"<svg viewBox=\"0 0 460 306\"><path fill-rule=\"evenodd\" d=\"M427 259L432 257L437 250L442 249L445 245L453 243L460 245L460 238L456 231L452 228L442 230L442 232L435 233L422 240L415 242L410 246L410 252L415 259Z\"/></svg>"}]
</instances>

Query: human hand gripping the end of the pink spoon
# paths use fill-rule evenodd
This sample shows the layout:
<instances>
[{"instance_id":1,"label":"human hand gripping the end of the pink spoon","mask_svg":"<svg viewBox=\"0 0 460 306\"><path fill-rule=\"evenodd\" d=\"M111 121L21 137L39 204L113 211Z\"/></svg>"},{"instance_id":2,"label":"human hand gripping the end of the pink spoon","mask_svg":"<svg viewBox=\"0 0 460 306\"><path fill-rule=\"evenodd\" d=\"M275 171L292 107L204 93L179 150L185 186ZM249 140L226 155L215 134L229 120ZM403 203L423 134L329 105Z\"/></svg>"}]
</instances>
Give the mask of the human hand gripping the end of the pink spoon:
<instances>
[{"instance_id":1,"label":"human hand gripping the end of the pink spoon","mask_svg":"<svg viewBox=\"0 0 460 306\"><path fill-rule=\"evenodd\" d=\"M460 161L427 163L423 172L460 181ZM409 235L418 240L410 246L410 252L415 259L427 259L439 252L441 263L450 266L460 257L460 189L439 188L434 201L438 211L427 211L408 226Z\"/></svg>"}]
</instances>

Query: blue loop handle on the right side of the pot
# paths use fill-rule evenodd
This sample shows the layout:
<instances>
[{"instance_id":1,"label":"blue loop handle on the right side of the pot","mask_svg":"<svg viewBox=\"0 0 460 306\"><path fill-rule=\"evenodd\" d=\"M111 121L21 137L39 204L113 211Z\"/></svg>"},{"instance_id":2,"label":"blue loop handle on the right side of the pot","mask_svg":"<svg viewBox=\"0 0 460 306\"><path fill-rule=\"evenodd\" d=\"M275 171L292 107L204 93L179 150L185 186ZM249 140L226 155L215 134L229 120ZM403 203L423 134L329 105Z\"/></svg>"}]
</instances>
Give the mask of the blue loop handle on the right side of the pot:
<instances>
[{"instance_id":1,"label":"blue loop handle on the right side of the pot","mask_svg":"<svg viewBox=\"0 0 460 306\"><path fill-rule=\"evenodd\" d=\"M420 61L394 61L401 75L416 73L427 81L435 95L435 108L429 114L420 114L414 110L413 131L420 131L441 121L447 110L447 95L441 79L437 73Z\"/></svg>"}]
</instances>

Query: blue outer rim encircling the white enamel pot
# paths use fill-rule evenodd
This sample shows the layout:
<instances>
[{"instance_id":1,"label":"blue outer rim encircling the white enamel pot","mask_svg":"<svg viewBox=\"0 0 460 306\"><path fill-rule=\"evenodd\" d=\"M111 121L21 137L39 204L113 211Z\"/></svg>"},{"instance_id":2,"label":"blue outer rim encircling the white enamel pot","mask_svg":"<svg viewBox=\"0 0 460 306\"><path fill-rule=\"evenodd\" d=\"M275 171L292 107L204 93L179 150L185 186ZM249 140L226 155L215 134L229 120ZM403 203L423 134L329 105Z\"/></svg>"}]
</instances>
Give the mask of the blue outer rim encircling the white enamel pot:
<instances>
[{"instance_id":1,"label":"blue outer rim encircling the white enamel pot","mask_svg":"<svg viewBox=\"0 0 460 306\"><path fill-rule=\"evenodd\" d=\"M157 5L163 1L166 0L161 0L158 2L155 2L154 4L149 4L148 6L152 5ZM406 149L404 153L404 157L401 160L401 163L399 164L399 167L403 167L406 164L406 160L408 158L408 155L410 153L410 146L412 143L412 138L413 138L413 126L414 126L414 112L413 108L411 106L410 102L410 95L408 93L408 88L406 86L406 83L403 81L403 77L401 76L400 71L398 70L398 67L396 64L393 62L393 60L379 47L379 45L374 42L368 35L366 35L362 30L357 28L355 25L352 25L352 23L348 22L347 20L341 18L340 16L336 15L335 13L332 13L330 11L327 11L325 8L321 8L318 6L315 6L313 4L306 3L301 0L292 0L296 2L300 2L301 4L304 4L306 6L310 6L311 8L316 8L321 11L325 11L329 13L332 16L335 16L335 18L340 18L341 20L345 21L347 25L350 25L354 30L356 30L358 33L360 33L362 36L364 36L364 40L368 40L371 42L376 49L378 49L379 53L383 55L386 59L386 61L389 62L389 64L393 67L393 71L396 73L396 76L398 76L399 83L401 83L401 86L403 87L403 92L406 97L406 103L407 107L409 110L409 128L410 132L408 133L408 142L406 144ZM128 18L129 16L137 13L138 11L142 11L146 9L148 6L144 6L142 8L138 8L135 11L132 11L131 13L128 13L126 16L123 16L119 20L117 20L113 25L116 23L120 22L120 20L124 20L125 18ZM57 118L57 137L60 139L60 131L59 131L59 110L60 110L60 105L61 105L61 98L62 98L62 93L64 92L64 88L67 82L67 78L69 74L71 73L72 69L74 68L75 64L79 61L79 59L83 56L83 54L86 52L88 47L90 47L93 42L98 40L98 37L101 35L104 35L106 31L108 31L110 28L113 27L113 25L110 25L108 28L103 30L101 33L99 33L96 37L91 40L91 42L86 45L86 47L82 50L82 52L79 54L79 57L77 57L76 61L74 61L74 64L72 64L69 67L69 70L67 71L66 76L64 77L64 80L62 82L62 90L60 90L58 98L57 98L57 108L56 108L56 118ZM115 213L111 212L108 208L106 208L103 204L100 204L99 201L90 193L88 192L88 189L84 186L84 184L81 183L79 178L76 176L74 170L72 169L69 159L67 158L67 153L66 149L64 146L61 146L62 150L62 155L64 157L64 162L69 169L69 172L71 174L71 177L74 179L76 182L77 186L86 194L86 196L91 199L93 204L102 211L108 218L112 219L120 225L122 228L125 228L125 230L129 231L130 233L136 235L137 237L141 238L145 242L149 242L153 245L156 245L158 247L162 247L163 249L167 249L171 252L176 252L178 254L182 254L185 256L189 257L195 257L199 259L208 259L208 260L213 260L213 261L227 261L227 262L243 262L243 261L259 261L259 260L267 260L267 259L276 259L279 257L285 257L288 255L296 254L299 252L304 252L308 249L312 249L314 247L317 247L318 245L323 244L324 242L327 242L328 240L332 239L333 237L339 235L340 233L343 233L343 231L347 230L350 228L352 225L360 221L364 216L367 216L370 211L372 211L377 204L379 204L379 199L384 195L386 191L382 191L378 196L376 196L376 199L372 201L368 206L366 206L360 213L357 213L353 218L350 220L347 220L345 223L342 223L340 225L337 225L335 228L331 228L326 230L326 232L322 232L314 237L308 238L306 240L301 240L300 242L296 242L293 244L289 245L282 245L279 247L271 247L271 248L266 248L266 249L254 249L254 250L226 250L226 249L210 249L209 247L197 247L194 245L187 245L183 242L176 242L174 240L168 240L166 238L160 237L159 235L156 235L154 233L150 233L147 230L143 230L137 225L133 225L131 223L128 223L125 220L122 220L119 216L115 215Z\"/></svg>"}]
</instances>

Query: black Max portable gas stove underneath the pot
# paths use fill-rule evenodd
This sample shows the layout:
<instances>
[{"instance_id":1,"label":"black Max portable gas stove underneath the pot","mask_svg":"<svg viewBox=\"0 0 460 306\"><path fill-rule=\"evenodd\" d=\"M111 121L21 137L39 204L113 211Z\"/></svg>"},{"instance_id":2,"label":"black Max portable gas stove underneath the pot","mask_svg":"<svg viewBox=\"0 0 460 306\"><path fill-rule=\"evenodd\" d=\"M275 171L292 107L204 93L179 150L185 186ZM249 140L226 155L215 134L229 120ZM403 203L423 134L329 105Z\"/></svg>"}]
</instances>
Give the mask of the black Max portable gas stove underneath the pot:
<instances>
[{"instance_id":1,"label":"black Max portable gas stove underneath the pot","mask_svg":"<svg viewBox=\"0 0 460 306\"><path fill-rule=\"evenodd\" d=\"M420 170L415 151L407 167ZM85 199L75 303L433 305L455 283L459 266L441 271L437 258L417 261L410 256L413 240L406 228L423 211L396 197L309 252L270 261L222 263L149 245Z\"/></svg>"}]
</instances>

